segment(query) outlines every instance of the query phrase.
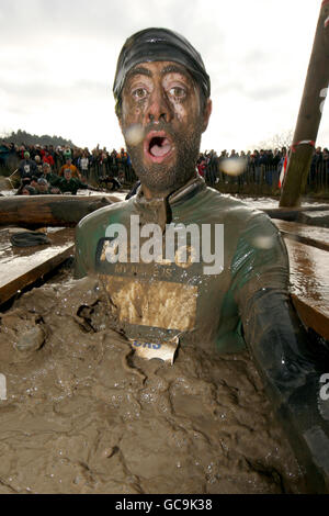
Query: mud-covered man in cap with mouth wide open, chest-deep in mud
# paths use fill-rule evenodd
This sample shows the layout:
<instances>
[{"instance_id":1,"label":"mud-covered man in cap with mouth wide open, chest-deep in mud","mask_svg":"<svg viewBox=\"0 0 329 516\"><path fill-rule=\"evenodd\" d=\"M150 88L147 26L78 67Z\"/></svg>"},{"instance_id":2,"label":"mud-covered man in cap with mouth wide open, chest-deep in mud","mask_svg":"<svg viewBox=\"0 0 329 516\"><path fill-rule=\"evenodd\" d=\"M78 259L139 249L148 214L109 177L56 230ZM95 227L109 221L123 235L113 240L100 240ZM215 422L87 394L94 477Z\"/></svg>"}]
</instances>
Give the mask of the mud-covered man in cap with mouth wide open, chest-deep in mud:
<instances>
[{"instance_id":1,"label":"mud-covered man in cap with mouth wide open, chest-deep in mud","mask_svg":"<svg viewBox=\"0 0 329 516\"><path fill-rule=\"evenodd\" d=\"M324 489L329 410L319 408L321 367L290 300L285 245L264 213L196 172L212 112L200 54L172 31L140 31L122 48L113 91L140 187L80 222L78 277L100 278L129 339L158 346L179 337L219 352L247 346Z\"/></svg>"}]
</instances>

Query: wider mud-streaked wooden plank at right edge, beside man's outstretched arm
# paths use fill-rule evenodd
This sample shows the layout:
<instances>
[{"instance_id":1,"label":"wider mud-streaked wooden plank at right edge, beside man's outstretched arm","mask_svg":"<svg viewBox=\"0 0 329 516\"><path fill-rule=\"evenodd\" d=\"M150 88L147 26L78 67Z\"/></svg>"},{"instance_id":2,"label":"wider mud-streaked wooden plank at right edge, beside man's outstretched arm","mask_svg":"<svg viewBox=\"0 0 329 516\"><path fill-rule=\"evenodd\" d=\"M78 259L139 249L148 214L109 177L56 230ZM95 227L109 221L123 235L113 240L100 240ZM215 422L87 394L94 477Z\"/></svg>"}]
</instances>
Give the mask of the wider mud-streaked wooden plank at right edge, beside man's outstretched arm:
<instances>
[{"instance_id":1,"label":"wider mud-streaked wooden plank at right edge, beside man's outstretched arm","mask_svg":"<svg viewBox=\"0 0 329 516\"><path fill-rule=\"evenodd\" d=\"M329 255L327 250L285 240L293 303L307 327L329 340Z\"/></svg>"}]
</instances>

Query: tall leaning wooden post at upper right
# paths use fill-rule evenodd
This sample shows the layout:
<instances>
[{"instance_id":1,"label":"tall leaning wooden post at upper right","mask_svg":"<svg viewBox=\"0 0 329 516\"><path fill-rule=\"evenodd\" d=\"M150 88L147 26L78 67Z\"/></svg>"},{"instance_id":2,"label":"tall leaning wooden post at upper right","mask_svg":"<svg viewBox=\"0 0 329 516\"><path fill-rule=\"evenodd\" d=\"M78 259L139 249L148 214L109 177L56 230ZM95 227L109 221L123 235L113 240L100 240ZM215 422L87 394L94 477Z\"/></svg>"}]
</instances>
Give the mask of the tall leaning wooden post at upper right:
<instances>
[{"instance_id":1,"label":"tall leaning wooden post at upper right","mask_svg":"<svg viewBox=\"0 0 329 516\"><path fill-rule=\"evenodd\" d=\"M329 85L329 0L321 3L280 206L300 204Z\"/></svg>"}]
</instances>

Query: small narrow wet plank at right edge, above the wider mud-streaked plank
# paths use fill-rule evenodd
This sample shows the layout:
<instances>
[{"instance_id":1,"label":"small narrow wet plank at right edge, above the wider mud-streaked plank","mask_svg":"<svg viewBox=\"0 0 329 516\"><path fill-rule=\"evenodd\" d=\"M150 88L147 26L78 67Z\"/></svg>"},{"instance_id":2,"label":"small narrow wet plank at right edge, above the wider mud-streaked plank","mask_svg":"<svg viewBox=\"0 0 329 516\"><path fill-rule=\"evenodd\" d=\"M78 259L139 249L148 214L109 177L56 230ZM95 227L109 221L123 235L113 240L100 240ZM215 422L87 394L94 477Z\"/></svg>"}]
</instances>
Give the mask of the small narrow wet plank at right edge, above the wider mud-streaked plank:
<instances>
[{"instance_id":1,"label":"small narrow wet plank at right edge, above the wider mud-streaked plank","mask_svg":"<svg viewBox=\"0 0 329 516\"><path fill-rule=\"evenodd\" d=\"M318 247L319 249L329 250L329 228L314 227L297 222L279 221L276 218L273 218L272 222L280 229L284 238L291 238L309 246Z\"/></svg>"}]
</instances>

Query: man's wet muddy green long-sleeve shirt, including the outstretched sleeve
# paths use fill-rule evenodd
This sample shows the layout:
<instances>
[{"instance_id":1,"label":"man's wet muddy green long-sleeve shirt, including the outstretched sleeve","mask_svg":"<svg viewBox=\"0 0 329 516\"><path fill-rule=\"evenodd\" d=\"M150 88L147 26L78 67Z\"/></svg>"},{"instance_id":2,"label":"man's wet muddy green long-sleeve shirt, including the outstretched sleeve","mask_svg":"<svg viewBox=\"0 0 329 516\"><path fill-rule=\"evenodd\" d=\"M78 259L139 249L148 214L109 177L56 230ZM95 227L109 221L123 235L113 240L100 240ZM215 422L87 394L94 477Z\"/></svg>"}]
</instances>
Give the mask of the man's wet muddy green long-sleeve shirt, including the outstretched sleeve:
<instances>
[{"instance_id":1,"label":"man's wet muddy green long-sleeve shirt, including the outstretched sleeve","mask_svg":"<svg viewBox=\"0 0 329 516\"><path fill-rule=\"evenodd\" d=\"M149 237L154 223L161 245ZM167 254L173 224L186 242L178 237ZM268 215L201 179L166 202L147 201L139 190L84 217L76 253L78 277L100 278L128 338L179 336L182 346L220 352L247 345L310 492L329 492L329 401L319 396L328 351L317 356L294 311L286 248ZM151 254L157 261L138 260Z\"/></svg>"}]
</instances>

